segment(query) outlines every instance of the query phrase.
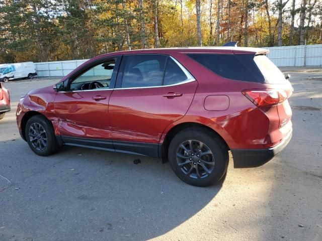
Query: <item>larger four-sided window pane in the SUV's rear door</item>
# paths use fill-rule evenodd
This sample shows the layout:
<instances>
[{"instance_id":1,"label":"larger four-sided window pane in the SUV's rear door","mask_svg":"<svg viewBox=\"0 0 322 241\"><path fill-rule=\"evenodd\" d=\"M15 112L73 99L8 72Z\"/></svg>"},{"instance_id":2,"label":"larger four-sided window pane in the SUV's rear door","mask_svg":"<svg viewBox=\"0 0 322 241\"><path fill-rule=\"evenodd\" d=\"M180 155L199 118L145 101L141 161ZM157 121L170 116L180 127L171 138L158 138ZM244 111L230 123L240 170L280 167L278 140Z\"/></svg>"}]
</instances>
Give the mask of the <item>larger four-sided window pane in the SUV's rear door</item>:
<instances>
[{"instance_id":1,"label":"larger four-sided window pane in the SUV's rear door","mask_svg":"<svg viewBox=\"0 0 322 241\"><path fill-rule=\"evenodd\" d=\"M122 88L160 86L163 82L167 57L163 55L128 56Z\"/></svg>"}]
</instances>

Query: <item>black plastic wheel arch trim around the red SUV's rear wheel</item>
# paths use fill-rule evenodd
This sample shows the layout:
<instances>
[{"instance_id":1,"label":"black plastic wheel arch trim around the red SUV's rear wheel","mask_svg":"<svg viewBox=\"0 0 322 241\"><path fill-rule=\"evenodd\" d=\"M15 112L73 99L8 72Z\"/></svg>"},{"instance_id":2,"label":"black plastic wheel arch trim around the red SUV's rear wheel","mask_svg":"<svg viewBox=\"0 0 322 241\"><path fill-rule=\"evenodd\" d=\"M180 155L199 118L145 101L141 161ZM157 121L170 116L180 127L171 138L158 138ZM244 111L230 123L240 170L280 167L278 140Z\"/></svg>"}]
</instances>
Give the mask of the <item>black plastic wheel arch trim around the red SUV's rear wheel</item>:
<instances>
[{"instance_id":1,"label":"black plastic wheel arch trim around the red SUV's rear wheel","mask_svg":"<svg viewBox=\"0 0 322 241\"><path fill-rule=\"evenodd\" d=\"M183 130L188 129L188 128L203 128L203 129L207 129L212 134L216 135L219 139L221 139L222 142L225 144L227 150L229 150L229 146L228 146L227 142L215 130L211 129L208 126L200 124L200 123L185 122L185 123L180 123L180 124L174 126L173 128L171 128L168 131L168 133L166 134L166 137L165 137L162 145L159 145L159 157L162 158L162 163L166 163L166 162L169 161L169 159L168 159L168 150L169 150L169 146L170 146L170 143L171 143L172 139L179 132L182 132Z\"/></svg>"}]
</instances>

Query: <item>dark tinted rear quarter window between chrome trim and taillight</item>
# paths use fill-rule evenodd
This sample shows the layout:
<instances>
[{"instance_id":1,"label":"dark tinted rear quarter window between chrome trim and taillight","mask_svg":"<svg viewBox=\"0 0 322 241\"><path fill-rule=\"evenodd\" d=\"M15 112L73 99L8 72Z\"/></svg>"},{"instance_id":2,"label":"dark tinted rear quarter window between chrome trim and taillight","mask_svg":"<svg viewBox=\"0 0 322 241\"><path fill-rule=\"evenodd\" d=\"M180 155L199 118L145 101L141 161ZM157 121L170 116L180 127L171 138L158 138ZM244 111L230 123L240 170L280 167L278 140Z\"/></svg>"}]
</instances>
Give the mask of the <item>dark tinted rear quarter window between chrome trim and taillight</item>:
<instances>
[{"instance_id":1,"label":"dark tinted rear quarter window between chrome trim and taillight","mask_svg":"<svg viewBox=\"0 0 322 241\"><path fill-rule=\"evenodd\" d=\"M241 81L265 83L253 54L187 54L212 72Z\"/></svg>"}]
</instances>

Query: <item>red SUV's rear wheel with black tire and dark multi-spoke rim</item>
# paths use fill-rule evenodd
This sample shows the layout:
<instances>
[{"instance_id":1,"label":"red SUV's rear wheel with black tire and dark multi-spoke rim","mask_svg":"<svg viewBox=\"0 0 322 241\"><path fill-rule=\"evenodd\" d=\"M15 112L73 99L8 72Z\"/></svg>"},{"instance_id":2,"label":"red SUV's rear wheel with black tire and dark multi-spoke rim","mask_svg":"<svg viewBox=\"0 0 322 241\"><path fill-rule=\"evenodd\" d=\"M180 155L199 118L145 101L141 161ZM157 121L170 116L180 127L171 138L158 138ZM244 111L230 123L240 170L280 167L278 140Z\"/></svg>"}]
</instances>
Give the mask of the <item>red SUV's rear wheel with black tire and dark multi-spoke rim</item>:
<instances>
[{"instance_id":1,"label":"red SUV's rear wheel with black tire and dark multi-spoke rim","mask_svg":"<svg viewBox=\"0 0 322 241\"><path fill-rule=\"evenodd\" d=\"M187 152L190 151L190 142L193 152ZM227 171L229 157L225 143L205 128L189 128L178 133L170 143L168 155L175 174L193 186L215 184Z\"/></svg>"}]
</instances>

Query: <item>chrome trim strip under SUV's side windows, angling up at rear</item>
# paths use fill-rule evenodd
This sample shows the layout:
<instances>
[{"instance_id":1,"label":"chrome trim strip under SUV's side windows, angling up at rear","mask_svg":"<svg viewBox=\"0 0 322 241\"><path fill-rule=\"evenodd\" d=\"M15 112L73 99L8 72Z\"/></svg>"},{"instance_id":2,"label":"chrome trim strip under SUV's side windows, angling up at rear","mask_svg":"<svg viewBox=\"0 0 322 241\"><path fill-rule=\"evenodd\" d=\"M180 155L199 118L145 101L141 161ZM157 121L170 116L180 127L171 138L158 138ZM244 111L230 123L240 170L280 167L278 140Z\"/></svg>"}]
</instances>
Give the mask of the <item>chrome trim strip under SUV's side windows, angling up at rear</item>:
<instances>
[{"instance_id":1,"label":"chrome trim strip under SUV's side windows, angling up at rear","mask_svg":"<svg viewBox=\"0 0 322 241\"><path fill-rule=\"evenodd\" d=\"M174 57L169 56L178 66L179 68L185 73L187 76L187 79L175 84L168 84L168 85L157 85L157 86L143 86L143 87L129 87L129 88L113 88L113 89L87 89L87 90L71 90L71 91L58 91L61 93L69 93L69 92L84 92L84 91L103 91L103 90L119 90L119 89L146 89L146 88L160 88L160 87L171 87L181 84L187 84L193 81L196 81L196 79L189 73L189 71L176 60Z\"/></svg>"}]
</instances>

